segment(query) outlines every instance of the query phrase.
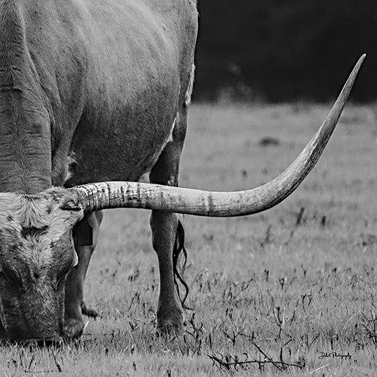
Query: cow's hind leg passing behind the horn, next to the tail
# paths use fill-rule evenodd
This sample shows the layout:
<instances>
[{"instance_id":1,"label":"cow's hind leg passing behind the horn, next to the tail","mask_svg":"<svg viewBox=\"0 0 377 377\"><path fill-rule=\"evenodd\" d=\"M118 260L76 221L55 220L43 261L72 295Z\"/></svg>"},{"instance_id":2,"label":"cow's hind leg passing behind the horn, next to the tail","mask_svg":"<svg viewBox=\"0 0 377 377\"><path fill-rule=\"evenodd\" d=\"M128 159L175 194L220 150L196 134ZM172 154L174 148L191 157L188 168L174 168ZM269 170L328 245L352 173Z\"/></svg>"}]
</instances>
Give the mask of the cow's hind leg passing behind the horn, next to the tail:
<instances>
[{"instance_id":1,"label":"cow's hind leg passing behind the horn, next to the tail","mask_svg":"<svg viewBox=\"0 0 377 377\"><path fill-rule=\"evenodd\" d=\"M177 118L172 140L167 143L150 173L150 182L178 186L178 171L186 117ZM153 210L150 219L152 243L158 256L160 270L160 296L157 308L159 332L180 332L183 328L183 309L178 291L178 282L184 284L178 273L178 257L186 255L183 247L184 232L176 213ZM183 252L183 253L182 253Z\"/></svg>"}]
</instances>

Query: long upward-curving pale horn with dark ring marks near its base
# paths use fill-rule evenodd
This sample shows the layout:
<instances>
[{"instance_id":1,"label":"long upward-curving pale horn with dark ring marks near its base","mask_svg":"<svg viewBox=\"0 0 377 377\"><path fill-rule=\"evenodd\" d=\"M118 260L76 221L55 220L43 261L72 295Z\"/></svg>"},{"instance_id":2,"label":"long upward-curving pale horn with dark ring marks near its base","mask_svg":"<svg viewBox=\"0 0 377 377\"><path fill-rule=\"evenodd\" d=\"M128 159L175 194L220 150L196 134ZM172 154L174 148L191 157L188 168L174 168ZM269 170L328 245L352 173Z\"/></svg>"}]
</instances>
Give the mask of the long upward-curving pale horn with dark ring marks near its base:
<instances>
[{"instance_id":1,"label":"long upward-curving pale horn with dark ring marks near its base","mask_svg":"<svg viewBox=\"0 0 377 377\"><path fill-rule=\"evenodd\" d=\"M148 208L199 216L252 215L282 202L299 186L321 156L350 95L365 54L350 77L317 134L301 154L277 178L246 191L210 192L138 182L99 182L75 186L86 210Z\"/></svg>"}]
</instances>

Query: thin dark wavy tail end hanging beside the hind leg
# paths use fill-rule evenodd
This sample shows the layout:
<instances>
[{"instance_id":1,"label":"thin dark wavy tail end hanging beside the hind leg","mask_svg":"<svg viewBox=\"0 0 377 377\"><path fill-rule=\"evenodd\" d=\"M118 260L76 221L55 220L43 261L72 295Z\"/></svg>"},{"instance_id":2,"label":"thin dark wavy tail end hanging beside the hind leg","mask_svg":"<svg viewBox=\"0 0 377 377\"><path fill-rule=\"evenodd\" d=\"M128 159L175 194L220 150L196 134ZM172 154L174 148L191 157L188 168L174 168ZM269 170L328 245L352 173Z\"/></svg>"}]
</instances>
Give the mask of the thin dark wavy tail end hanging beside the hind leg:
<instances>
[{"instance_id":1,"label":"thin dark wavy tail end hanging beside the hind leg","mask_svg":"<svg viewBox=\"0 0 377 377\"><path fill-rule=\"evenodd\" d=\"M187 296L189 295L189 286L184 281L184 270L186 269L187 262L187 252L184 247L184 228L182 223L178 220L177 232L175 233L175 243L173 248L173 271L174 271L174 283L178 291L178 296L180 297L180 302L182 307L189 309L188 306L184 304ZM180 287L178 282L180 282L185 290L183 300L180 295Z\"/></svg>"}]
</instances>

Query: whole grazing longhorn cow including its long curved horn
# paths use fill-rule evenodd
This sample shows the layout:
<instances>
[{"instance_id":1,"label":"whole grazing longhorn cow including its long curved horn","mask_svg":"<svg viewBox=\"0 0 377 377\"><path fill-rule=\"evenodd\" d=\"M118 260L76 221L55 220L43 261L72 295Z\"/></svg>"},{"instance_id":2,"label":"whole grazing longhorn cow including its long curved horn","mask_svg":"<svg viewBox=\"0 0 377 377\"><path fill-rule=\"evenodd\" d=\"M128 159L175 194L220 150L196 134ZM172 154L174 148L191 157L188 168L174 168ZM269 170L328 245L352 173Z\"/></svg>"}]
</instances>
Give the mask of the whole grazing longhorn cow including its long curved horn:
<instances>
[{"instance_id":1,"label":"whole grazing longhorn cow including its long curved horn","mask_svg":"<svg viewBox=\"0 0 377 377\"><path fill-rule=\"evenodd\" d=\"M158 330L179 331L176 212L266 210L317 162L363 58L278 178L234 193L178 188L196 36L195 0L0 0L1 339L81 335L100 210L120 207L152 210Z\"/></svg>"}]
</instances>

